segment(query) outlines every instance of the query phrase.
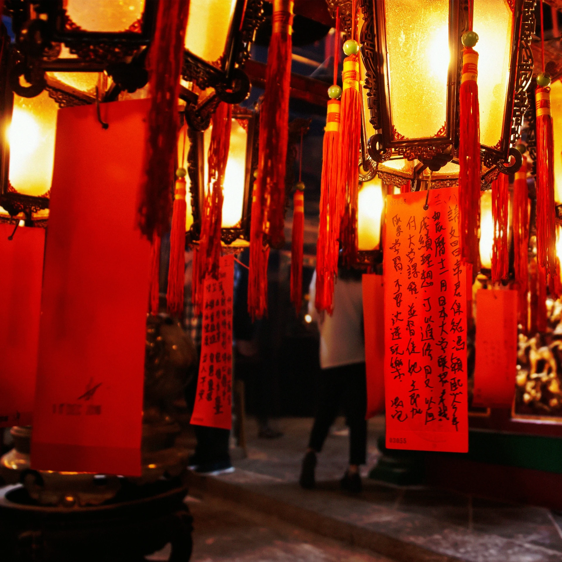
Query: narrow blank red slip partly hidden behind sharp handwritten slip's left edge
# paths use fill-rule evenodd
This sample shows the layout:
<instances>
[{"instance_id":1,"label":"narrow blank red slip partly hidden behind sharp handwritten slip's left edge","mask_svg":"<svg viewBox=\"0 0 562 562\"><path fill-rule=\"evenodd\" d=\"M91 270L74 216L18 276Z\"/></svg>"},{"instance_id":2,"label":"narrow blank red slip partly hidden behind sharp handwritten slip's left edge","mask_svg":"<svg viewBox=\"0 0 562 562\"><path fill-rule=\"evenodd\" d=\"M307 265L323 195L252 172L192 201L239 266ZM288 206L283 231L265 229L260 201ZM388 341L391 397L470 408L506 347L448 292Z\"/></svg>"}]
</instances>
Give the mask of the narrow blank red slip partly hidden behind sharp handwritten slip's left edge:
<instances>
[{"instance_id":1,"label":"narrow blank red slip partly hidden behind sharp handwritten slip's left edge","mask_svg":"<svg viewBox=\"0 0 562 562\"><path fill-rule=\"evenodd\" d=\"M365 419L369 419L384 409L383 276L363 275L362 288L367 373L367 413Z\"/></svg>"}]
</instances>

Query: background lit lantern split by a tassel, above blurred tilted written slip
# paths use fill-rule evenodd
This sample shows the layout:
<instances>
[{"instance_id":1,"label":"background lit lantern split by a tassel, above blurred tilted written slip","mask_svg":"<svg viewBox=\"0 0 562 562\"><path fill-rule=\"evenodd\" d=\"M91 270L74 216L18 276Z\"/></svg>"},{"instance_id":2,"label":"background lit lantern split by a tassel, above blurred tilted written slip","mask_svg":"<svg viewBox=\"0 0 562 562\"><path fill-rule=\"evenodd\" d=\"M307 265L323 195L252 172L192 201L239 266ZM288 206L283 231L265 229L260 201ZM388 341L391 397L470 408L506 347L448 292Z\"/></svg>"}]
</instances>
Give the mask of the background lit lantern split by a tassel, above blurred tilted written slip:
<instances>
[{"instance_id":1,"label":"background lit lantern split by a tassel, above blurred tilted written slip","mask_svg":"<svg viewBox=\"0 0 562 562\"><path fill-rule=\"evenodd\" d=\"M180 134L178 161L185 158L188 170L188 192L191 205L188 205L186 228L192 241L199 238L203 201L209 188L209 145L212 124L205 132L187 130L186 148ZM223 221L221 239L225 244L245 245L250 239L250 210L253 184L253 170L257 158L256 116L253 111L235 106L232 112L232 129L228 161L223 182ZM181 152L181 154L180 154Z\"/></svg>"}]
</instances>

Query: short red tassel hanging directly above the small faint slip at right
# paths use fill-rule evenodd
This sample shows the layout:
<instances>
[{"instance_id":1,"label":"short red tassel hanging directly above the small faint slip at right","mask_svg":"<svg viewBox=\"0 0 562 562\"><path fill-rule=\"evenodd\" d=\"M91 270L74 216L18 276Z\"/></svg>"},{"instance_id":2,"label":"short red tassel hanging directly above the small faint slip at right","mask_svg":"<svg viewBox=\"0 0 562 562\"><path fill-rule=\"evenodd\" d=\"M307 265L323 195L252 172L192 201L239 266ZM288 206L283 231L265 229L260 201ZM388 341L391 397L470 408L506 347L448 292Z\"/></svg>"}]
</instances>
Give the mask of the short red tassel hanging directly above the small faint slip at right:
<instances>
[{"instance_id":1,"label":"short red tassel hanging directly above the small faint slip at right","mask_svg":"<svg viewBox=\"0 0 562 562\"><path fill-rule=\"evenodd\" d=\"M507 279L509 275L509 247L507 246L507 221L509 217L509 181L500 174L492 183L492 283Z\"/></svg>"}]
</instances>

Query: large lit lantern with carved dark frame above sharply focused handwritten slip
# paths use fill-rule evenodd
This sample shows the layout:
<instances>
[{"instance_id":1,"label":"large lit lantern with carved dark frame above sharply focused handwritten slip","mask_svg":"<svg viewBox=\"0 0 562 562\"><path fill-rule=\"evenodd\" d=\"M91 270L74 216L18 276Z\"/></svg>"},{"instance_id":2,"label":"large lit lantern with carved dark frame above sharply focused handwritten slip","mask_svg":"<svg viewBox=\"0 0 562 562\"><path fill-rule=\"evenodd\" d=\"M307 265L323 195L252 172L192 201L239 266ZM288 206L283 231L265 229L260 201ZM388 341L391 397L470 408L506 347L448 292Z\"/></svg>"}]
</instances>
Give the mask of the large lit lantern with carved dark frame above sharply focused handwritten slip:
<instances>
[{"instance_id":1,"label":"large lit lantern with carved dark frame above sharply focused handwritten slip","mask_svg":"<svg viewBox=\"0 0 562 562\"><path fill-rule=\"evenodd\" d=\"M349 0L328 4L334 10L339 5L350 24ZM435 173L456 160L460 38L468 29L468 0L360 0L359 6L362 93L371 126L365 127L366 152L377 164L417 161L402 166L402 172L418 181L425 169ZM522 161L514 144L532 77L534 2L474 0L474 30L480 38L482 182L487 186L499 171L511 173Z\"/></svg>"}]
</instances>

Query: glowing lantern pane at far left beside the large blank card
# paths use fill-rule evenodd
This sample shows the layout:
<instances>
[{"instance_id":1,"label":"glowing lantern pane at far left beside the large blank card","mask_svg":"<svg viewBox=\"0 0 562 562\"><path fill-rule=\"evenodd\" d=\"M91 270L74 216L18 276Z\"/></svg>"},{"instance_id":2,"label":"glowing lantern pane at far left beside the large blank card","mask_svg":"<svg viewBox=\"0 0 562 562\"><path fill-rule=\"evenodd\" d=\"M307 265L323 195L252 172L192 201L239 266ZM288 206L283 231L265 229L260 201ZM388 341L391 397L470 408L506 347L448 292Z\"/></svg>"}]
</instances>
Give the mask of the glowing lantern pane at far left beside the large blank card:
<instances>
[{"instance_id":1,"label":"glowing lantern pane at far left beside the large blank card","mask_svg":"<svg viewBox=\"0 0 562 562\"><path fill-rule=\"evenodd\" d=\"M57 103L47 91L34 98L15 95L10 143L10 174L13 188L26 195L42 195L51 189Z\"/></svg>"}]
</instances>

